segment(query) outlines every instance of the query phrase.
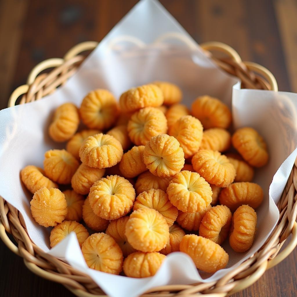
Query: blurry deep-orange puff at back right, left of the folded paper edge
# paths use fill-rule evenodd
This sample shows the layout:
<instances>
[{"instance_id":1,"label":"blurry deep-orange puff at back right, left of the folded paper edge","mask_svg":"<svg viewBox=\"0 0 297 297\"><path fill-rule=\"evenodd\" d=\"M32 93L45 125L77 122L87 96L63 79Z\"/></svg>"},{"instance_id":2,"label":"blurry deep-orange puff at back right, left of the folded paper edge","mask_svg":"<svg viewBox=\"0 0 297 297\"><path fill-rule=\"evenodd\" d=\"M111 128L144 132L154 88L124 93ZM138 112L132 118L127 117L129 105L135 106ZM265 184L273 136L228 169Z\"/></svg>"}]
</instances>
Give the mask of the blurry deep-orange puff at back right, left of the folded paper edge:
<instances>
[{"instance_id":1,"label":"blurry deep-orange puff at back right, left of the folded paper edge","mask_svg":"<svg viewBox=\"0 0 297 297\"><path fill-rule=\"evenodd\" d=\"M198 97L192 103L192 115L200 120L204 129L227 129L232 120L228 106L219 99L210 96Z\"/></svg>"}]
</instances>

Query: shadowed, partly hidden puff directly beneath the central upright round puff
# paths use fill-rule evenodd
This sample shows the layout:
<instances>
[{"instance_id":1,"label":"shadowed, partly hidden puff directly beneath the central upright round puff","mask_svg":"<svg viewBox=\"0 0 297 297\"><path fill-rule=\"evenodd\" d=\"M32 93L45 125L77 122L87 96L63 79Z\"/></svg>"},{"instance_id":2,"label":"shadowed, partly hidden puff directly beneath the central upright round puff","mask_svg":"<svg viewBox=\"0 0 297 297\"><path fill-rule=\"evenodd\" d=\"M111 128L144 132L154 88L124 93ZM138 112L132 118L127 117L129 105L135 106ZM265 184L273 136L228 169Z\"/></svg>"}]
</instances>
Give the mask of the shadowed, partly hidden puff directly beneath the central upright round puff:
<instances>
[{"instance_id":1,"label":"shadowed, partly hidden puff directly beneath the central upright round puff","mask_svg":"<svg viewBox=\"0 0 297 297\"><path fill-rule=\"evenodd\" d=\"M161 189L166 192L171 177L159 177L146 171L138 176L135 189L136 194L139 195L143 191L149 191L150 189Z\"/></svg>"}]
</instances>

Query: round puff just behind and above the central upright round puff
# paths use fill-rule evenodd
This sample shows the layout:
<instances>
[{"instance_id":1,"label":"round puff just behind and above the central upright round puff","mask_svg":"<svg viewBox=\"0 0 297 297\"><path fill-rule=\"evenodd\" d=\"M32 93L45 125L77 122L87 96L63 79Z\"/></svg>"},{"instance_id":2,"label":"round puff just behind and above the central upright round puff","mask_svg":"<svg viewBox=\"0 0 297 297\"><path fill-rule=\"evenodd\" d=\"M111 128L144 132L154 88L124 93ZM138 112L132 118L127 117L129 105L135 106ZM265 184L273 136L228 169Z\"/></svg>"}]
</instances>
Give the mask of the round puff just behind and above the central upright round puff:
<instances>
[{"instance_id":1,"label":"round puff just behind and above the central upright round puff","mask_svg":"<svg viewBox=\"0 0 297 297\"><path fill-rule=\"evenodd\" d=\"M153 136L167 132L167 119L157 108L142 108L133 113L127 130L133 143L137 146L146 145Z\"/></svg>"}]
</instances>

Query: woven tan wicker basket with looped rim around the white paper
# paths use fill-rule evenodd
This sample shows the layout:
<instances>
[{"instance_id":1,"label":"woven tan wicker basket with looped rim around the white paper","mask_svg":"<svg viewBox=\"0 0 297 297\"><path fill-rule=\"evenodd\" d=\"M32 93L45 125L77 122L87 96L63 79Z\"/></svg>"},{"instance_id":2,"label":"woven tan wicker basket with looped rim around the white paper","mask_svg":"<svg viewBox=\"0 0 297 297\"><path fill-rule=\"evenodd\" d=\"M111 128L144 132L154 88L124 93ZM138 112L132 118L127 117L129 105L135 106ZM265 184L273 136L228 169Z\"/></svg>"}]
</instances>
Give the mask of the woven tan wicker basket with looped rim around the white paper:
<instances>
[{"instance_id":1,"label":"woven tan wicker basket with looped rim around the white paper","mask_svg":"<svg viewBox=\"0 0 297 297\"><path fill-rule=\"evenodd\" d=\"M39 100L55 91L72 76L85 56L82 52L93 50L97 42L83 42L68 51L63 59L48 59L38 64L29 74L27 84L18 87L11 95L8 106ZM223 70L242 81L242 88L268 89L277 91L277 82L266 68L251 62L242 62L238 53L228 45L219 42L204 43L201 47ZM214 52L224 53L216 58ZM220 55L222 56L222 54ZM54 68L52 71L48 69ZM47 72L46 72L47 70ZM40 74L42 72L42 74ZM297 162L293 166L287 185L278 203L280 218L268 241L252 257L216 282L192 285L166 285L155 287L143 296L170 297L194 296L197 293L208 296L227 296L252 285L269 268L277 265L297 245ZM23 257L25 265L35 274L59 282L77 296L105 296L104 292L87 275L72 268L63 261L47 255L29 238L23 218L12 205L0 197L0 237L15 254ZM9 239L11 233L18 246ZM290 243L281 252L285 240L292 233ZM153 293L153 295L152 295ZM206 295L206 296L207 296Z\"/></svg>"}]
</instances>

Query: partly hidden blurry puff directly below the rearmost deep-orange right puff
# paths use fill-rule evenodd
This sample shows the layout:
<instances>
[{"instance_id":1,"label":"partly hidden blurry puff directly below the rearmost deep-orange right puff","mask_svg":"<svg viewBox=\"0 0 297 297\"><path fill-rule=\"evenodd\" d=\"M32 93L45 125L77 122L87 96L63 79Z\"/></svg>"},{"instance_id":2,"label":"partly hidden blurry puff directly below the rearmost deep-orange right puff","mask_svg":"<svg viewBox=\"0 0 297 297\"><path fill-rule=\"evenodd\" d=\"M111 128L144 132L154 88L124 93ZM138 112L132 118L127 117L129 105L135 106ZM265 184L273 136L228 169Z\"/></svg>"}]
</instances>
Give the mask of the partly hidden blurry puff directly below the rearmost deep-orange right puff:
<instances>
[{"instance_id":1,"label":"partly hidden blurry puff directly below the rearmost deep-orange right puff","mask_svg":"<svg viewBox=\"0 0 297 297\"><path fill-rule=\"evenodd\" d=\"M231 134L222 128L211 128L203 131L200 149L227 151L231 146Z\"/></svg>"}]
</instances>

